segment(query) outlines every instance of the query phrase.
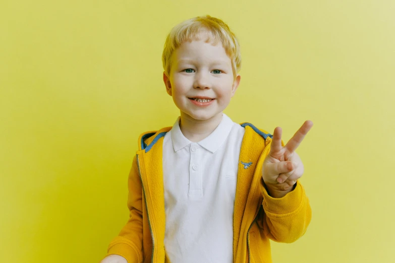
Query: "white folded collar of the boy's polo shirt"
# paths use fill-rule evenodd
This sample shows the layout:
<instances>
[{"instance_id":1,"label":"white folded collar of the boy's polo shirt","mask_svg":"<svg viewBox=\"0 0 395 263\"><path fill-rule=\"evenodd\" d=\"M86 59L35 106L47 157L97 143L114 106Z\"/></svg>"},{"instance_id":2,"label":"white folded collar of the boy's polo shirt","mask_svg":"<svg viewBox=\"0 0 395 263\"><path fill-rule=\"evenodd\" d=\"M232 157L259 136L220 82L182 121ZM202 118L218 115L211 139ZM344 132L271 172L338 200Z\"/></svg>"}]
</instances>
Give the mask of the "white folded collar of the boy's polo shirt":
<instances>
[{"instance_id":1,"label":"white folded collar of the boy's polo shirt","mask_svg":"<svg viewBox=\"0 0 395 263\"><path fill-rule=\"evenodd\" d=\"M223 142L228 138L233 126L233 121L225 113L222 113L222 120L219 122L218 126L213 130L213 132L198 142L197 144L206 149L211 153L215 153L216 150L222 145ZM190 145L192 142L188 140L182 133L180 129L180 116L174 123L171 130L173 148L177 152L184 147Z\"/></svg>"}]
</instances>

